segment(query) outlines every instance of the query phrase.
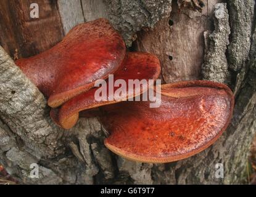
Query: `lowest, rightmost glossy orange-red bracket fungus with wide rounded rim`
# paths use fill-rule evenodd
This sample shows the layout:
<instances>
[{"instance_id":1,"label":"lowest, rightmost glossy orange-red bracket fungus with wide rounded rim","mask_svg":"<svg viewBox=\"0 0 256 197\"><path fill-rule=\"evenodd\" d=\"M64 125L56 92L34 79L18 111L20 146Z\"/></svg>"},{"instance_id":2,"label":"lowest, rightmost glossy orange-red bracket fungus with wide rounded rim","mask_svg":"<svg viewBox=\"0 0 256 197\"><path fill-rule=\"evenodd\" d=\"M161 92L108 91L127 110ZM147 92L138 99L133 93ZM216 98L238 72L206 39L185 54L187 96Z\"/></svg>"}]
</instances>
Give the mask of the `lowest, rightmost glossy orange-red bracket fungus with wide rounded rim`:
<instances>
[{"instance_id":1,"label":"lowest, rightmost glossy orange-red bracket fungus with wide rounded rim","mask_svg":"<svg viewBox=\"0 0 256 197\"><path fill-rule=\"evenodd\" d=\"M146 163L167 163L195 155L225 131L234 97L224 84L186 81L162 85L162 104L122 102L104 108L110 136L105 145L117 155Z\"/></svg>"}]
</instances>

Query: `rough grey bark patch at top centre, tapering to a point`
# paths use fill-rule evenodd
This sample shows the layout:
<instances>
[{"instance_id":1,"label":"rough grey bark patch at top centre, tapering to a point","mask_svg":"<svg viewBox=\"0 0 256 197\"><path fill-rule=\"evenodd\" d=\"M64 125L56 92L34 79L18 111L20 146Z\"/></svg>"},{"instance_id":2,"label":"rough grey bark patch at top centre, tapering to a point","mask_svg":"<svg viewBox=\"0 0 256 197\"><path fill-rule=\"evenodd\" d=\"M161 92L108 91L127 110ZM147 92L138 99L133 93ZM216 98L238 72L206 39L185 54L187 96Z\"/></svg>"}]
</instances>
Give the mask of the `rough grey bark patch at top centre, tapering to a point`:
<instances>
[{"instance_id":1,"label":"rough grey bark patch at top centre, tapering to a point","mask_svg":"<svg viewBox=\"0 0 256 197\"><path fill-rule=\"evenodd\" d=\"M137 31L152 28L171 12L171 0L105 0L105 3L110 21L122 34L127 46L137 38Z\"/></svg>"}]
</instances>

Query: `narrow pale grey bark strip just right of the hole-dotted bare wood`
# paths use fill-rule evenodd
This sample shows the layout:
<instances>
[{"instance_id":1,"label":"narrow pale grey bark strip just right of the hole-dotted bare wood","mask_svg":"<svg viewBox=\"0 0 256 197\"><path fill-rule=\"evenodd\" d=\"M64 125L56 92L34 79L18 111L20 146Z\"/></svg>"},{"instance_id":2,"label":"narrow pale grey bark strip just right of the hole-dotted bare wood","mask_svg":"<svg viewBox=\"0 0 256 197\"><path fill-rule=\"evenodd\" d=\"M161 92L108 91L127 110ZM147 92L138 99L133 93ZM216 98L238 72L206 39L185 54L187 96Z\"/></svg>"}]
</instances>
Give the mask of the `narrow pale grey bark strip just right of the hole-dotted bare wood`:
<instances>
[{"instance_id":1,"label":"narrow pale grey bark strip just right of the hole-dotted bare wood","mask_svg":"<svg viewBox=\"0 0 256 197\"><path fill-rule=\"evenodd\" d=\"M229 16L226 4L216 4L214 12L215 30L213 33L204 33L205 57L202 65L203 79L230 84L231 74L228 71L226 49L229 44Z\"/></svg>"}]
</instances>

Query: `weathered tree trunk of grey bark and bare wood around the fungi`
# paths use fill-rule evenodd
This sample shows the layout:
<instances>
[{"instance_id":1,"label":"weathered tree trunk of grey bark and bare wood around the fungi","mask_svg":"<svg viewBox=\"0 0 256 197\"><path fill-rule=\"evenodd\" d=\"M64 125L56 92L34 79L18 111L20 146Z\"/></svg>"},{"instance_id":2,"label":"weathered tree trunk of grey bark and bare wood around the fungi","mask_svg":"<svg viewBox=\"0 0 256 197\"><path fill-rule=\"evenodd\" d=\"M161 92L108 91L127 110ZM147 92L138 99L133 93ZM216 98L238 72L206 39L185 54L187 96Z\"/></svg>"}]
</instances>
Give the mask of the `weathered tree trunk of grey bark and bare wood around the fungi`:
<instances>
[{"instance_id":1,"label":"weathered tree trunk of grey bark and bare wood around the fungi","mask_svg":"<svg viewBox=\"0 0 256 197\"><path fill-rule=\"evenodd\" d=\"M39 18L30 18L30 1L0 2L0 163L7 172L20 183L244 182L256 132L254 0L204 0L202 13L193 10L200 10L196 0L33 2ZM233 119L216 143L182 161L134 163L104 147L107 132L97 118L80 118L69 131L52 123L44 96L12 59L49 49L76 24L99 17L112 22L130 50L159 57L162 83L209 79L234 90ZM33 163L38 178L30 176ZM219 163L222 178L215 176Z\"/></svg>"}]
</instances>

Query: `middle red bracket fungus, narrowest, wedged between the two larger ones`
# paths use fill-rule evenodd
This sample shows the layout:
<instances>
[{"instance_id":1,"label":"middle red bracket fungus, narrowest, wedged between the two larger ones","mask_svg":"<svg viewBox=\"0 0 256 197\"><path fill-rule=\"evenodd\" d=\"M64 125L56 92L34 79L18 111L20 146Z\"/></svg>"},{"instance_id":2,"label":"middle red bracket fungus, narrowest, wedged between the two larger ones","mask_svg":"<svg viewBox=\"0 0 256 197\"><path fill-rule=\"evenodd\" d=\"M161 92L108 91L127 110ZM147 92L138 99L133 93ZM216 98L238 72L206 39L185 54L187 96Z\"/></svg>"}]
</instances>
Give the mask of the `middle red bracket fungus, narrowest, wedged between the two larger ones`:
<instances>
[{"instance_id":1,"label":"middle red bracket fungus, narrowest, wedged between the two larger ones","mask_svg":"<svg viewBox=\"0 0 256 197\"><path fill-rule=\"evenodd\" d=\"M110 79L107 81L105 86L107 90L105 92L105 100L96 100L96 91L99 90L99 88L96 87L68 100L68 102L64 103L59 109L52 109L51 117L59 126L65 129L70 129L76 124L80 111L100 107L102 105L122 102L128 98L136 97L136 95L142 94L143 91L148 89L149 79L153 79L155 81L159 74L160 62L157 57L142 52L130 52L127 54L123 65L120 66L120 68L114 74L112 81L113 84L110 84ZM142 89L142 87L139 85L125 86L125 88L122 89L121 84L116 84L118 79L121 79L123 84L126 85L129 84L129 80L145 80L146 88ZM154 85L154 83L152 83L152 85ZM123 90L122 93L125 94L119 95L119 91L117 92L118 89Z\"/></svg>"}]
</instances>

